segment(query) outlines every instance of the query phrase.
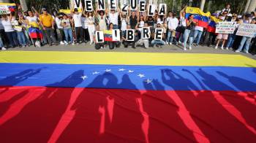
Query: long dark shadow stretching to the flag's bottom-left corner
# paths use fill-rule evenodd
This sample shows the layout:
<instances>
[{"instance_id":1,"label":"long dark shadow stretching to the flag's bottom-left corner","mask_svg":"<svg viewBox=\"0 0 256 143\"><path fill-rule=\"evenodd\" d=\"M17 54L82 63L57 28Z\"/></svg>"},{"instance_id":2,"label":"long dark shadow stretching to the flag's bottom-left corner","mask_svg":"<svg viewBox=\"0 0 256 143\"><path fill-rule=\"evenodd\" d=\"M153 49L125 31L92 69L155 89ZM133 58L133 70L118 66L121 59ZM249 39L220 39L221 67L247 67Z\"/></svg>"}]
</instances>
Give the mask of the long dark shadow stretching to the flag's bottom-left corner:
<instances>
[{"instance_id":1,"label":"long dark shadow stretching to the flag's bottom-left corner","mask_svg":"<svg viewBox=\"0 0 256 143\"><path fill-rule=\"evenodd\" d=\"M61 82L46 85L47 88L7 123L1 125L1 142L48 142L63 115L72 91L83 80L83 70L75 71ZM70 87L70 88L60 88ZM34 95L36 96L36 95ZM15 137L13 137L15 136Z\"/></svg>"}]
</instances>

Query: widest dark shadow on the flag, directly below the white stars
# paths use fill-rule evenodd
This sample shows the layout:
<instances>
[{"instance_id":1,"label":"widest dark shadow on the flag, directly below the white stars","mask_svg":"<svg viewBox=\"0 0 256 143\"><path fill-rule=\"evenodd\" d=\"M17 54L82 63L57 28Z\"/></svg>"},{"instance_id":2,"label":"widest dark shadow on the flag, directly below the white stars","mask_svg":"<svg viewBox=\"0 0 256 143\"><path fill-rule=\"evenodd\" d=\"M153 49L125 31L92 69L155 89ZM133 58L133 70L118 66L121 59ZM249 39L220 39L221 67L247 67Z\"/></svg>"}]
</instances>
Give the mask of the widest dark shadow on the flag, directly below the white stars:
<instances>
[{"instance_id":1,"label":"widest dark shadow on the flag, directly below the white stars","mask_svg":"<svg viewBox=\"0 0 256 143\"><path fill-rule=\"evenodd\" d=\"M124 75L120 84L111 73L96 77L72 107L75 117L58 141L142 142L143 118L136 102L140 92L124 90L121 88L124 85L135 88L128 75ZM99 110L104 111L103 116Z\"/></svg>"}]
</instances>

